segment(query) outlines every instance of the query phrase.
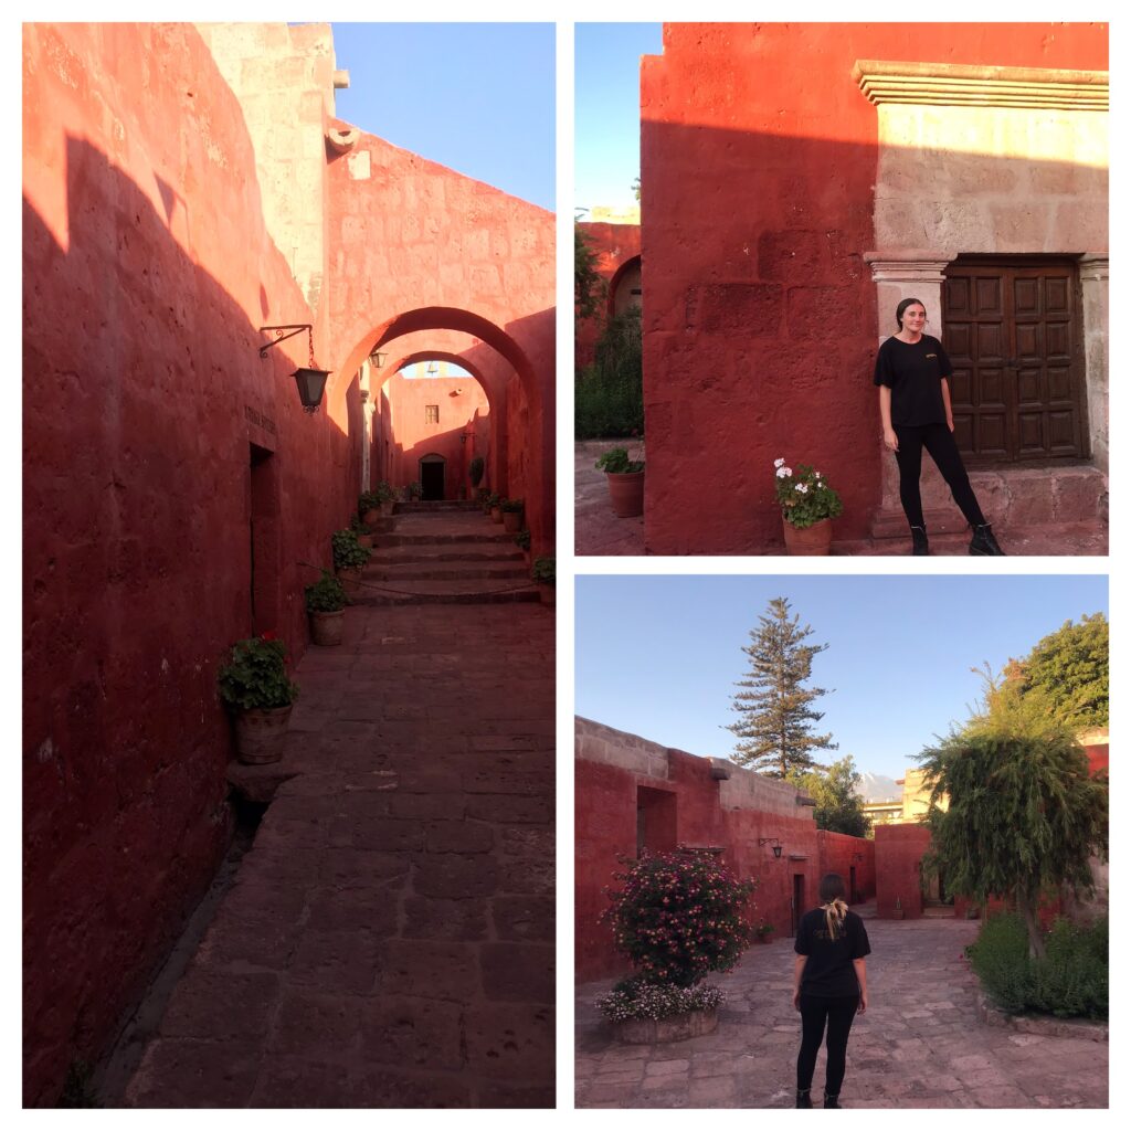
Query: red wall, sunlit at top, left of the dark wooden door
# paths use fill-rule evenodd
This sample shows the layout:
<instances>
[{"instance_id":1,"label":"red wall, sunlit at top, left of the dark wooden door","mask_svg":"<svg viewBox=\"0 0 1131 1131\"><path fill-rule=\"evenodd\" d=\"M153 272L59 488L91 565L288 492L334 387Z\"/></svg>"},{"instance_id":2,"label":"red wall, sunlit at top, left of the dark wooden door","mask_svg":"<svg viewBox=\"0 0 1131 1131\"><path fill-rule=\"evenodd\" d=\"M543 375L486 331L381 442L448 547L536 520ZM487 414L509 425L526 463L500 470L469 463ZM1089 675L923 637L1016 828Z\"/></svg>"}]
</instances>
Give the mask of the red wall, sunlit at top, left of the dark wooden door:
<instances>
[{"instance_id":1,"label":"red wall, sunlit at top, left of the dark wooden door","mask_svg":"<svg viewBox=\"0 0 1131 1131\"><path fill-rule=\"evenodd\" d=\"M1106 69L1107 29L665 25L640 81L651 553L779 551L777 457L841 493L840 537L863 536L880 504L862 258L878 127L858 59Z\"/></svg>"}]
</instances>

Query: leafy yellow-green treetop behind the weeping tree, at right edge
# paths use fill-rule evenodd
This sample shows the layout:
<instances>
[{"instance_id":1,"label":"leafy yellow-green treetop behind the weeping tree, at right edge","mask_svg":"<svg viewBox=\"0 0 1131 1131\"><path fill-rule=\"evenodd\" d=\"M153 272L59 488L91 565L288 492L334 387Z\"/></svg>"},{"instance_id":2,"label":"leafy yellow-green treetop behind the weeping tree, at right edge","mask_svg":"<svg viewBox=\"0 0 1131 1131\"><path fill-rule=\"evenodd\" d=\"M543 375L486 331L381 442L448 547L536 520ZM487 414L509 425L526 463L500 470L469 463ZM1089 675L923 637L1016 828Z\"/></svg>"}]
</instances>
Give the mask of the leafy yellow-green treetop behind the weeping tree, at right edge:
<instances>
[{"instance_id":1,"label":"leafy yellow-green treetop behind the weeping tree, at right edge","mask_svg":"<svg viewBox=\"0 0 1131 1131\"><path fill-rule=\"evenodd\" d=\"M1056 718L1076 729L1107 726L1107 619L1065 621L1020 664L1027 694L1047 697Z\"/></svg>"}]
</instances>

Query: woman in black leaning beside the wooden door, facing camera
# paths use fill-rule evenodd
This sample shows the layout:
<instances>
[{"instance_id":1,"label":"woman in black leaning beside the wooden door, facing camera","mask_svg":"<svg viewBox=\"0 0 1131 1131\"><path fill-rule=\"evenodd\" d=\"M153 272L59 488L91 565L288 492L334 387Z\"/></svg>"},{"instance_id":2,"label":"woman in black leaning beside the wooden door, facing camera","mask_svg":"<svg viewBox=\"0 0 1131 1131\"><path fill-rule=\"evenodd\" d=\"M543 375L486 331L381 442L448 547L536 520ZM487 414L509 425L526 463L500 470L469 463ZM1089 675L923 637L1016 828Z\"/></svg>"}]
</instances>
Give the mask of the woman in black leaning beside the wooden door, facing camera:
<instances>
[{"instance_id":1,"label":"woman in black leaning beside the wooden door, facing camera","mask_svg":"<svg viewBox=\"0 0 1131 1131\"><path fill-rule=\"evenodd\" d=\"M899 465L899 501L912 528L912 553L930 553L918 486L926 448L974 530L970 553L1002 555L1004 551L982 513L951 434L955 417L948 380L950 359L938 338L923 333L926 307L918 299L904 299L896 308L896 321L899 333L880 346L873 383L880 387L883 442L896 454Z\"/></svg>"}]
</instances>

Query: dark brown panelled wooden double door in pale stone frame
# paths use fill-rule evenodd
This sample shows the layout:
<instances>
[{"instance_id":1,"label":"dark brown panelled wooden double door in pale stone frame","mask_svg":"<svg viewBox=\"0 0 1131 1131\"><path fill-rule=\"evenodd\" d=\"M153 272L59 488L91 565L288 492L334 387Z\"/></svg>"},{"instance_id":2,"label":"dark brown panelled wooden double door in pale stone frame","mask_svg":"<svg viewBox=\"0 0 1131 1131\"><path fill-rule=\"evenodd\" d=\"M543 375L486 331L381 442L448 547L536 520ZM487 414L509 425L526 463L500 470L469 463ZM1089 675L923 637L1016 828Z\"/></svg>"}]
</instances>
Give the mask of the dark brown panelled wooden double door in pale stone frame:
<instances>
[{"instance_id":1,"label":"dark brown panelled wooden double door in pale stone frame","mask_svg":"<svg viewBox=\"0 0 1131 1131\"><path fill-rule=\"evenodd\" d=\"M958 259L943 287L955 439L973 466L1087 456L1070 259Z\"/></svg>"}]
</instances>

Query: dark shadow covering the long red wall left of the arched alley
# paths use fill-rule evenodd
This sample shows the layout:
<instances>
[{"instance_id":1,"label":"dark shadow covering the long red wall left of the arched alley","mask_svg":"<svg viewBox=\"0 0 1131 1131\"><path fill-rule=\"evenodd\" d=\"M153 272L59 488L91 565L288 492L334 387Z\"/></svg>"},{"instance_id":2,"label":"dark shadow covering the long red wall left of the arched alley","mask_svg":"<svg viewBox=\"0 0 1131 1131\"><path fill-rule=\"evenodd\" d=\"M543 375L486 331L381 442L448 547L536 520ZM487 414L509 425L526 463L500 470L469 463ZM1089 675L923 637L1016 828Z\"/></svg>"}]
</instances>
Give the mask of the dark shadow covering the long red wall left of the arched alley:
<instances>
[{"instance_id":1,"label":"dark shadow covering the long red wall left of the arched alley","mask_svg":"<svg viewBox=\"0 0 1131 1131\"><path fill-rule=\"evenodd\" d=\"M328 563L353 506L349 438L302 412L291 377L304 339L260 360L259 322L174 239L185 217L95 146L70 137L66 155L67 245L27 199L23 232L31 1105L97 1057L211 880L231 826L217 666L260 628L297 659L297 562ZM248 254L264 320L309 321L282 257ZM253 456L274 467L256 516L266 586Z\"/></svg>"}]
</instances>

